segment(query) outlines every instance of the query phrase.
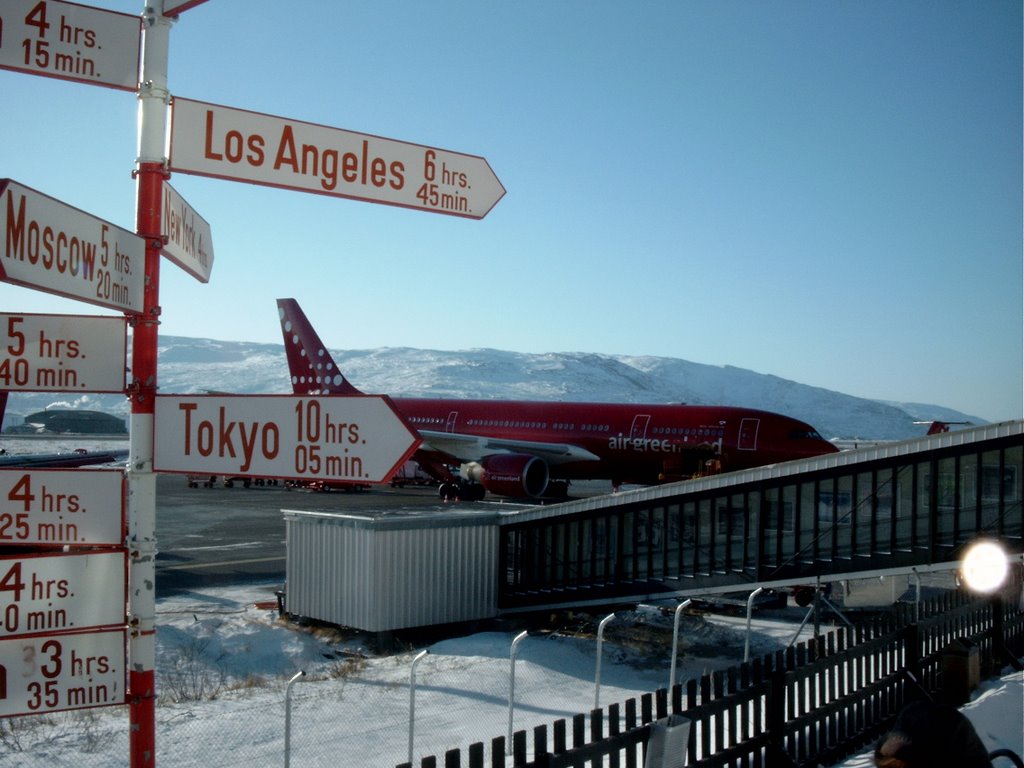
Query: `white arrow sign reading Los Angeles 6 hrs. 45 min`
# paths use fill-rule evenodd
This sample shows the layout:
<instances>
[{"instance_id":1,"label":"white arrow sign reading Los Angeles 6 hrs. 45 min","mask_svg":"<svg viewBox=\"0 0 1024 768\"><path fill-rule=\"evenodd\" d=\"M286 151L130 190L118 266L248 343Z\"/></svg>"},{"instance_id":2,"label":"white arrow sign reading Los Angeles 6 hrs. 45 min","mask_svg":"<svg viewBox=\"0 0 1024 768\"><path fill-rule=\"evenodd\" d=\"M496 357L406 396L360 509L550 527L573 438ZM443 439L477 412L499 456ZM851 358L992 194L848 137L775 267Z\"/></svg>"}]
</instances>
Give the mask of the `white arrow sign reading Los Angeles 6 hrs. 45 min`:
<instances>
[{"instance_id":1,"label":"white arrow sign reading Los Angeles 6 hrs. 45 min","mask_svg":"<svg viewBox=\"0 0 1024 768\"><path fill-rule=\"evenodd\" d=\"M174 98L172 170L480 219L505 195L483 158Z\"/></svg>"}]
</instances>

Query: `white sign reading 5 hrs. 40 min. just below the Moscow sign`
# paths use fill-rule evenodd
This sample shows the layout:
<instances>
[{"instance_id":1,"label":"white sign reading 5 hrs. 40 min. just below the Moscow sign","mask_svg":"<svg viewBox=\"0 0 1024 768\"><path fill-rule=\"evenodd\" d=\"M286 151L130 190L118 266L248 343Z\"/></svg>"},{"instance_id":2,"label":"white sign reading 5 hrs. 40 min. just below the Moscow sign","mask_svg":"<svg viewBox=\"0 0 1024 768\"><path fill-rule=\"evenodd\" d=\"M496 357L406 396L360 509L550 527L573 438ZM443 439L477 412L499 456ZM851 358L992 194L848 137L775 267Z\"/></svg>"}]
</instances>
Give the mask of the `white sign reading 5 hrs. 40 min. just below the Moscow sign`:
<instances>
[{"instance_id":1,"label":"white sign reading 5 hrs. 40 min. just below the Moscow sign","mask_svg":"<svg viewBox=\"0 0 1024 768\"><path fill-rule=\"evenodd\" d=\"M0 388L123 392L124 317L0 314Z\"/></svg>"}]
</instances>

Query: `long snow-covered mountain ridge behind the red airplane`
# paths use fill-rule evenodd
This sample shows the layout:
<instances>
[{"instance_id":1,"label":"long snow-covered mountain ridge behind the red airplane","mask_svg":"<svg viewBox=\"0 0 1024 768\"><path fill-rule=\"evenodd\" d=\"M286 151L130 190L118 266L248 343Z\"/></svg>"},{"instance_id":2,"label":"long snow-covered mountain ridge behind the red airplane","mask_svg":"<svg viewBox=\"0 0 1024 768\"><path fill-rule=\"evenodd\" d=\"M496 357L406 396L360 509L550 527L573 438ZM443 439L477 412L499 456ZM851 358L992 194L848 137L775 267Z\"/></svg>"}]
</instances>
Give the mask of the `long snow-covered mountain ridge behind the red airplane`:
<instances>
[{"instance_id":1,"label":"long snow-covered mountain ridge behind the red airplane","mask_svg":"<svg viewBox=\"0 0 1024 768\"><path fill-rule=\"evenodd\" d=\"M686 402L745 406L802 419L826 438L892 440L924 433L914 421L983 420L940 406L882 402L812 387L732 366L673 357L564 352L525 354L498 349L438 351L387 347L333 351L342 372L366 392L402 397L481 397L604 402ZM165 336L160 340L160 390L286 393L285 349ZM5 426L61 403L127 416L119 395L12 393Z\"/></svg>"}]
</instances>

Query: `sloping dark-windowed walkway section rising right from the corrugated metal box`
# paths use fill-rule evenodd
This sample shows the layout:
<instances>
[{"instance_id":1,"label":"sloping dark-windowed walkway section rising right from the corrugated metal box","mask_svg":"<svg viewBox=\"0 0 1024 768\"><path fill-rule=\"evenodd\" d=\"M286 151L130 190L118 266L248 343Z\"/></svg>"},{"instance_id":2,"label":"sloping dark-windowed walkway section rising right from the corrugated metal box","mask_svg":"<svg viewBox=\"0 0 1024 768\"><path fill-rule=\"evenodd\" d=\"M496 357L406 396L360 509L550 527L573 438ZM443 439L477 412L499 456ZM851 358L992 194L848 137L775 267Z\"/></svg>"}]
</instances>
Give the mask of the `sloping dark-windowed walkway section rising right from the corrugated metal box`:
<instances>
[{"instance_id":1,"label":"sloping dark-windowed walkway section rising right from the corrugated metal box","mask_svg":"<svg viewBox=\"0 0 1024 768\"><path fill-rule=\"evenodd\" d=\"M1024 422L976 427L502 518L501 611L953 567L1024 552Z\"/></svg>"}]
</instances>

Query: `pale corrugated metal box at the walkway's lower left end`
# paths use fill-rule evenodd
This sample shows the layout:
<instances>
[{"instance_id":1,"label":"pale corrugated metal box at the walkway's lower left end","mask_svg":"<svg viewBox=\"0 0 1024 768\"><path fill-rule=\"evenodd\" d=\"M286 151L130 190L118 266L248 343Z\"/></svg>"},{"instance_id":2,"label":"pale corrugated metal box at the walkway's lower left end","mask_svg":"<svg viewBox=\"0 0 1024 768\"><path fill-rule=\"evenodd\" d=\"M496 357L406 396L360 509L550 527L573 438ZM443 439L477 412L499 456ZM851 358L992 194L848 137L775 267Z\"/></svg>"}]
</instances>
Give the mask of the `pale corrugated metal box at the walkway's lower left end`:
<instances>
[{"instance_id":1,"label":"pale corrugated metal box at the walkway's lower left end","mask_svg":"<svg viewBox=\"0 0 1024 768\"><path fill-rule=\"evenodd\" d=\"M369 632L498 613L498 516L285 511L286 608Z\"/></svg>"}]
</instances>

